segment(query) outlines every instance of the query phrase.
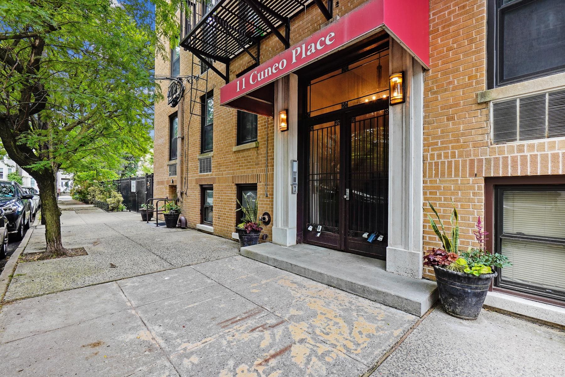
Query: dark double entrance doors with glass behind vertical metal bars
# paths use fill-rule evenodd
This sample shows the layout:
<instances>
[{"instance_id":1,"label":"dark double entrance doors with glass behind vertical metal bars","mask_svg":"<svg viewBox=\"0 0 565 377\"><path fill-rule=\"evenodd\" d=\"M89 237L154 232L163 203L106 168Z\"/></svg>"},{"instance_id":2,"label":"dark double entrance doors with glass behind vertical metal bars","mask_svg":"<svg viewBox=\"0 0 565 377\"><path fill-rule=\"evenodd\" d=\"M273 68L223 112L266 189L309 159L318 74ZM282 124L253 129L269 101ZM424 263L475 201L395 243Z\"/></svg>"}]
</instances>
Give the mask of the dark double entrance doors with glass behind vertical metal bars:
<instances>
[{"instance_id":1,"label":"dark double entrance doors with glass behind vertical metal bars","mask_svg":"<svg viewBox=\"0 0 565 377\"><path fill-rule=\"evenodd\" d=\"M339 112L308 126L305 242L385 257L388 109L381 109Z\"/></svg>"}]
</instances>

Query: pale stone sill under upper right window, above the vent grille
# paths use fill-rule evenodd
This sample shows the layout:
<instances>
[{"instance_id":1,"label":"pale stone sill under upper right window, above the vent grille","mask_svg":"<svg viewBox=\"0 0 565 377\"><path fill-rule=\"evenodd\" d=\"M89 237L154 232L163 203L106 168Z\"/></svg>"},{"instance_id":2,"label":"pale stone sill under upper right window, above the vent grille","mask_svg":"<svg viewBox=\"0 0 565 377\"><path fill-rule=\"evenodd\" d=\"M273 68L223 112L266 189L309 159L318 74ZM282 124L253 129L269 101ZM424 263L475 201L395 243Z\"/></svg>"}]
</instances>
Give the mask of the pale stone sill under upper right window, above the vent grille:
<instances>
[{"instance_id":1,"label":"pale stone sill under upper right window, above the vent grille","mask_svg":"<svg viewBox=\"0 0 565 377\"><path fill-rule=\"evenodd\" d=\"M494 101L501 98L517 97L523 94L544 92L565 86L565 72L554 75L537 77L536 79L522 81L521 83L499 86L498 88L483 90L477 93L477 102Z\"/></svg>"}]
</instances>

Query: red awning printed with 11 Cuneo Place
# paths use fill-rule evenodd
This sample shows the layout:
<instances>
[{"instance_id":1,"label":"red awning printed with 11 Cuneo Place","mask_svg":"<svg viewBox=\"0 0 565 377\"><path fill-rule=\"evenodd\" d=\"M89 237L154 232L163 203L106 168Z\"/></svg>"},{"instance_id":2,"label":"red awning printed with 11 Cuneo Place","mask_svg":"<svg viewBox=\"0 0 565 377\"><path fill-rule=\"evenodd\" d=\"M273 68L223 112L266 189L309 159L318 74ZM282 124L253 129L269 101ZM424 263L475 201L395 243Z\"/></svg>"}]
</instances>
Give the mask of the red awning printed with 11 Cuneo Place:
<instances>
[{"instance_id":1,"label":"red awning printed with 11 Cuneo Place","mask_svg":"<svg viewBox=\"0 0 565 377\"><path fill-rule=\"evenodd\" d=\"M369 0L220 89L220 105L273 116L273 81L384 30L429 68L428 0ZM260 88L265 88L258 90Z\"/></svg>"}]
</instances>

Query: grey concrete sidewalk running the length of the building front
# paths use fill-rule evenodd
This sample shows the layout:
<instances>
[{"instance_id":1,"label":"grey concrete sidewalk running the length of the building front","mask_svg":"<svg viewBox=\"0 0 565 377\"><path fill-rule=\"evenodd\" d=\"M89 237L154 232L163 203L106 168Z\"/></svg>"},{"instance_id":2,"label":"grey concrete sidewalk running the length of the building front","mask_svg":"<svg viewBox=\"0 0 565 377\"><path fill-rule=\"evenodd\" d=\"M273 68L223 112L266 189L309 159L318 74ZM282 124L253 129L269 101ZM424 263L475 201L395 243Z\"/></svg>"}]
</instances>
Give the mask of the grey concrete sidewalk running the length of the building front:
<instances>
[{"instance_id":1,"label":"grey concrete sidewalk running the length of the building front","mask_svg":"<svg viewBox=\"0 0 565 377\"><path fill-rule=\"evenodd\" d=\"M5 375L563 375L565 332L485 310L419 319L234 255L232 241L91 209L65 211L85 224L63 227L89 255L18 266L12 297L64 291L3 303Z\"/></svg>"}]
</instances>

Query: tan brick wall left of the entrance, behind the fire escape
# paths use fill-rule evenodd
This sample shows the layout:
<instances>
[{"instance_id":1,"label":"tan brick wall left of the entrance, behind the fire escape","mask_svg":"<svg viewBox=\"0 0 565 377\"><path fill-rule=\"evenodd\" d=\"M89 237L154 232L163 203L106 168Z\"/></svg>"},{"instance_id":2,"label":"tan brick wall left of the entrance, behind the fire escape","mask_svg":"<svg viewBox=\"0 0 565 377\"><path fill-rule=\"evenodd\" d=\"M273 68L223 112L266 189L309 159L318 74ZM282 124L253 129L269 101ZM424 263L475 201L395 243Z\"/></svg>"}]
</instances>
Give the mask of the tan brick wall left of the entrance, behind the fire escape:
<instances>
[{"instance_id":1,"label":"tan brick wall left of the entrance, behind the fire escape","mask_svg":"<svg viewBox=\"0 0 565 377\"><path fill-rule=\"evenodd\" d=\"M334 8L334 14L343 16L353 8L361 5L366 0L340 2L339 7ZM292 33L290 44L301 41L310 34L318 31L325 23L325 18L316 6L308 6L306 11L300 12L291 20ZM282 28L280 29L282 31ZM256 47L251 47L255 53ZM261 41L261 62L272 58L284 50L281 42L270 34ZM190 75L192 66L192 54L181 49L181 75ZM198 59L194 59L198 62ZM249 55L242 53L230 63L230 79L233 80L237 73L245 70L252 64ZM215 63L220 71L225 71L222 63ZM155 59L155 73L161 75L170 74L170 62L163 61L158 57ZM194 71L199 73L198 66ZM206 76L206 75L203 75ZM166 94L168 82L160 81L163 85L163 93ZM208 71L207 90L214 90L214 155L212 157L212 172L210 174L198 174L198 159L200 154L200 117L190 116L190 84L186 86L184 97L184 117L179 118L179 137L181 146L179 155L182 154L184 162L177 166L177 176L168 176L168 133L169 115L178 109L172 109L167 101L155 103L155 143L154 143L154 172L155 172L155 197L172 197L176 185L179 194L182 214L188 220L190 227L200 223L200 186L202 184L214 185L214 233L223 237L231 237L236 225L236 184L257 183L259 197L259 213L264 211L273 213L273 120L259 116L258 122L258 148L233 151L236 146L237 111L228 107L220 106L220 88L225 83L213 71ZM205 83L199 81L199 89L205 89ZM198 96L202 94L199 93ZM193 94L193 99L194 99ZM181 106L181 105L179 105ZM197 106L195 112L199 114ZM179 111L179 114L181 111ZM184 118L184 124L182 119ZM268 130L268 132L267 132ZM268 133L268 148L267 148ZM267 176L265 176L265 158L268 157ZM267 192L268 196L265 196ZM271 226L264 230L271 238Z\"/></svg>"}]
</instances>

